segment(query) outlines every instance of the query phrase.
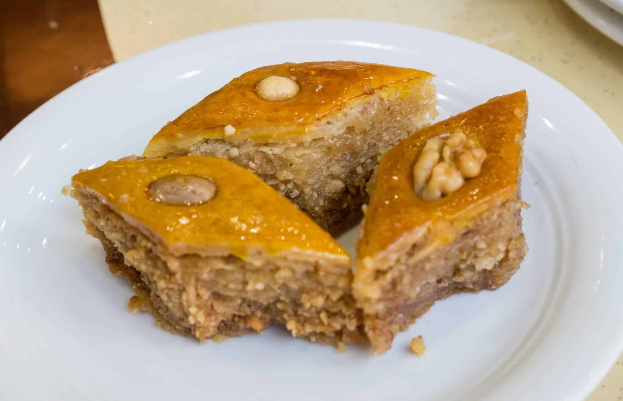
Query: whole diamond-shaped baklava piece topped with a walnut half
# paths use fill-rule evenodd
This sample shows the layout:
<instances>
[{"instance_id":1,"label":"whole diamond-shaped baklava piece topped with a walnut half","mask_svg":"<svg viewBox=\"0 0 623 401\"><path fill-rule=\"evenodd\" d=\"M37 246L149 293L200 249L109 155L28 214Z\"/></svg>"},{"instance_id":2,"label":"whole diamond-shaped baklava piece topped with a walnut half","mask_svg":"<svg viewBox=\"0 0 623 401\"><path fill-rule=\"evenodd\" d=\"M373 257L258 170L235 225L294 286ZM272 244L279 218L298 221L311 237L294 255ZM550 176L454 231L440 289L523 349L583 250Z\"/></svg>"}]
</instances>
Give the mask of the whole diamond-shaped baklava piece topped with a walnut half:
<instances>
[{"instance_id":1,"label":"whole diamond-shaped baklava piece topped with a walnut half","mask_svg":"<svg viewBox=\"0 0 623 401\"><path fill-rule=\"evenodd\" d=\"M384 154L369 182L353 293L366 336L394 336L459 292L495 290L525 256L524 91L424 128Z\"/></svg>"}]
</instances>

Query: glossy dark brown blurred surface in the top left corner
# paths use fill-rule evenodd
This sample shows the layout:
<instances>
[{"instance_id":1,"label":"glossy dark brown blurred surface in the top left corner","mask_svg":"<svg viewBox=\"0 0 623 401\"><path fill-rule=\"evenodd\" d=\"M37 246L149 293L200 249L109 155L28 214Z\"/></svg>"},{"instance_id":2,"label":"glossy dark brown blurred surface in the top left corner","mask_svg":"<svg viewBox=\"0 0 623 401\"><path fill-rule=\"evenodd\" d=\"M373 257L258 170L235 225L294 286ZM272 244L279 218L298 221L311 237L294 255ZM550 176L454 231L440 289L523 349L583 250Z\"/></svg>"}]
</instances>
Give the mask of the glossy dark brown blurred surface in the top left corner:
<instances>
[{"instance_id":1,"label":"glossy dark brown blurred surface in the top left corner","mask_svg":"<svg viewBox=\"0 0 623 401\"><path fill-rule=\"evenodd\" d=\"M0 138L112 62L97 0L0 1Z\"/></svg>"}]
</instances>

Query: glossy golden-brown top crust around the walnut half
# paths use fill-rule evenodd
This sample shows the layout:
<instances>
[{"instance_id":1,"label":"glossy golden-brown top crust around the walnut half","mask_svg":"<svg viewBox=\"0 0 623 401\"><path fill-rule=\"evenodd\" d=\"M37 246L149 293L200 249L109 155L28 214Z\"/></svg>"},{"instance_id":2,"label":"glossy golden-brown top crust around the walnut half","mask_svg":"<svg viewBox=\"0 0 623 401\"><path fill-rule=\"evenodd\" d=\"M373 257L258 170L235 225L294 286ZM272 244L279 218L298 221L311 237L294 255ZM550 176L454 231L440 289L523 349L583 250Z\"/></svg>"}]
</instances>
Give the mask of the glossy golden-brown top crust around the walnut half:
<instances>
[{"instance_id":1,"label":"glossy golden-brown top crust around the walnut half","mask_svg":"<svg viewBox=\"0 0 623 401\"><path fill-rule=\"evenodd\" d=\"M493 201L516 194L528 115L526 92L493 98L483 105L420 130L383 155L376 187L370 198L359 240L357 257L374 257L403 234L445 219L465 224ZM412 168L429 139L462 131L487 151L480 175L437 201L424 201L414 193ZM358 267L359 268L359 267Z\"/></svg>"}]
</instances>

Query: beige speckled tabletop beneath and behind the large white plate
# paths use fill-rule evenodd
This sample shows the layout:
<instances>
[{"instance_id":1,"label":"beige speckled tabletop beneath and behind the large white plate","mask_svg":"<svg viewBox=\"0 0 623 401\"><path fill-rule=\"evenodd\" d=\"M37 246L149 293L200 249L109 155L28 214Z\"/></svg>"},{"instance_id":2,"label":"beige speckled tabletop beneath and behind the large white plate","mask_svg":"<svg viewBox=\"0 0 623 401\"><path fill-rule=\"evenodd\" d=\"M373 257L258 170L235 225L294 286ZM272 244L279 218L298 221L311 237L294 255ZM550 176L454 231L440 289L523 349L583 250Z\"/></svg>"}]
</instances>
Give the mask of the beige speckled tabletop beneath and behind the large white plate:
<instances>
[{"instance_id":1,"label":"beige speckled tabletop beneath and behind the large white plate","mask_svg":"<svg viewBox=\"0 0 623 401\"><path fill-rule=\"evenodd\" d=\"M623 141L623 47L586 24L560 0L99 2L117 61L189 35L277 19L374 19L460 35L513 55L558 80ZM582 341L591 339L578 339L579 344ZM587 400L623 400L623 355Z\"/></svg>"}]
</instances>

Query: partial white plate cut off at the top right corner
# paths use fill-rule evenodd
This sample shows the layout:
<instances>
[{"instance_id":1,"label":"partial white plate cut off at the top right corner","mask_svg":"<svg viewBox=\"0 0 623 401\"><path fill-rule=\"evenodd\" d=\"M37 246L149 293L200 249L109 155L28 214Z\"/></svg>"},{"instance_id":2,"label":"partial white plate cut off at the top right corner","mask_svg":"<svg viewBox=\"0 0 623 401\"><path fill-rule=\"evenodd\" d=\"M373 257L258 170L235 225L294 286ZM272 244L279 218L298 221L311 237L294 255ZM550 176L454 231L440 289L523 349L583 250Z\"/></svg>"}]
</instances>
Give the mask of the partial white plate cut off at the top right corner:
<instances>
[{"instance_id":1,"label":"partial white plate cut off at the top right corner","mask_svg":"<svg viewBox=\"0 0 623 401\"><path fill-rule=\"evenodd\" d=\"M564 0L579 16L597 31L623 46L623 15L615 11L623 10L622 0ZM608 4L611 7L606 6ZM623 11L621 11L623 12Z\"/></svg>"}]
</instances>

